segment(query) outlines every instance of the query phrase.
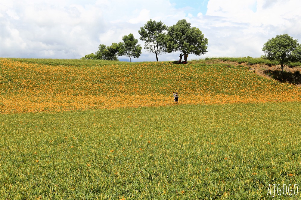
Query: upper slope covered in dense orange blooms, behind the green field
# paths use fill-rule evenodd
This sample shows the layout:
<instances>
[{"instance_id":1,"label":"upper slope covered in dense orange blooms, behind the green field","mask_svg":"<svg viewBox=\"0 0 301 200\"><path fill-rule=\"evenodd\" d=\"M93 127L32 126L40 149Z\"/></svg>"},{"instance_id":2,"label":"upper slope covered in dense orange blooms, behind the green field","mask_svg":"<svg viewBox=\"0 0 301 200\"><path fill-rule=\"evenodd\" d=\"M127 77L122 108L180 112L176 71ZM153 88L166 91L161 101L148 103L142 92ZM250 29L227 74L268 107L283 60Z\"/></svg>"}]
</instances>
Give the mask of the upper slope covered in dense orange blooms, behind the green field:
<instances>
[{"instance_id":1,"label":"upper slope covered in dense orange blooms, behind the green field","mask_svg":"<svg viewBox=\"0 0 301 200\"><path fill-rule=\"evenodd\" d=\"M301 100L301 88L243 65L1 58L0 112Z\"/></svg>"}]
</instances>

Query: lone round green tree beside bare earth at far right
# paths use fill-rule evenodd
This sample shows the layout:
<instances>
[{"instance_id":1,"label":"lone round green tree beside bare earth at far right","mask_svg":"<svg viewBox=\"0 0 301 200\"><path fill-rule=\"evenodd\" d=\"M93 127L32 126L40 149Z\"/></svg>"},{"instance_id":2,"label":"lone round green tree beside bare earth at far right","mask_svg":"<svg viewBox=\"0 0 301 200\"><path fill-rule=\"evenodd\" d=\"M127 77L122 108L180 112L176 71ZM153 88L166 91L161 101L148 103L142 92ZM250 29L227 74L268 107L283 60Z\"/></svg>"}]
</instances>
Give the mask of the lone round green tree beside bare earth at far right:
<instances>
[{"instance_id":1,"label":"lone round green tree beside bare earth at far right","mask_svg":"<svg viewBox=\"0 0 301 200\"><path fill-rule=\"evenodd\" d=\"M301 46L298 40L294 40L288 34L277 35L269 39L262 48L265 58L271 61L278 61L281 70L290 62L301 61Z\"/></svg>"}]
</instances>

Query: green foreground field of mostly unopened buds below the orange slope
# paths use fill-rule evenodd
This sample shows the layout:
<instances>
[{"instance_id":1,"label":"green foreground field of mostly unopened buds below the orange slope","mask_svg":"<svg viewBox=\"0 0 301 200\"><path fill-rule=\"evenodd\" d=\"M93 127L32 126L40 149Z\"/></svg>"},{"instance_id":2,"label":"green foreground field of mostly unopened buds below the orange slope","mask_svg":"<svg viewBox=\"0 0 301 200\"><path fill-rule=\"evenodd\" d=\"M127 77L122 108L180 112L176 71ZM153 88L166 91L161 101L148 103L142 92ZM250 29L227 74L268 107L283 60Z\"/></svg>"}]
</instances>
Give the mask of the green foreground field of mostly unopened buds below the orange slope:
<instances>
[{"instance_id":1,"label":"green foreground field of mostly unopened buds below the orange slope","mask_svg":"<svg viewBox=\"0 0 301 200\"><path fill-rule=\"evenodd\" d=\"M269 184L297 184L298 196L276 199L300 199L300 109L285 102L0 115L0 196L272 200Z\"/></svg>"}]
</instances>

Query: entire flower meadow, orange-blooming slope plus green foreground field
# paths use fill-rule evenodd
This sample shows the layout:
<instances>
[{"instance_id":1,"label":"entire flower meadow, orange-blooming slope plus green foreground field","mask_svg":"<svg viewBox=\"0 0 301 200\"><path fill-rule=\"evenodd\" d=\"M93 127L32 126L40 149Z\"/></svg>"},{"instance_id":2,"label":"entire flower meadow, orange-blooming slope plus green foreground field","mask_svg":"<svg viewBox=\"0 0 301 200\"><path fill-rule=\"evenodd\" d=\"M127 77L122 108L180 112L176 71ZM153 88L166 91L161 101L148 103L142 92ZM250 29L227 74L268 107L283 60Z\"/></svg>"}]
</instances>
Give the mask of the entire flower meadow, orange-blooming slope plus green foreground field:
<instances>
[{"instance_id":1,"label":"entire flower meadow, orange-blooming slope plus green foreground field","mask_svg":"<svg viewBox=\"0 0 301 200\"><path fill-rule=\"evenodd\" d=\"M1 58L0 88L0 199L301 197L295 85L224 64Z\"/></svg>"}]
</instances>

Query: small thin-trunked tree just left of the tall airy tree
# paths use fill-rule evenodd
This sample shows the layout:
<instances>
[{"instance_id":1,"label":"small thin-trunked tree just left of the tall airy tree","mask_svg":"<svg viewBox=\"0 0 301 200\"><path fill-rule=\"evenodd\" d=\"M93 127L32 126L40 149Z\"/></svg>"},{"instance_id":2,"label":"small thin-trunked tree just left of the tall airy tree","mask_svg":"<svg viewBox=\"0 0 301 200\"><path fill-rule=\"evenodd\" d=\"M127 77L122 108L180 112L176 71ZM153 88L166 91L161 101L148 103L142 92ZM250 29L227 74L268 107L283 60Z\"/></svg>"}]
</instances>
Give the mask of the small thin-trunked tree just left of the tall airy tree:
<instances>
[{"instance_id":1,"label":"small thin-trunked tree just left of the tall airy tree","mask_svg":"<svg viewBox=\"0 0 301 200\"><path fill-rule=\"evenodd\" d=\"M120 55L125 55L130 58L131 62L131 57L133 58L139 58L141 55L141 45L138 44L138 39L135 39L133 34L130 33L129 35L125 35L122 37L123 44L120 47L122 49L122 53Z\"/></svg>"}]
</instances>

